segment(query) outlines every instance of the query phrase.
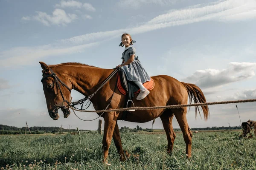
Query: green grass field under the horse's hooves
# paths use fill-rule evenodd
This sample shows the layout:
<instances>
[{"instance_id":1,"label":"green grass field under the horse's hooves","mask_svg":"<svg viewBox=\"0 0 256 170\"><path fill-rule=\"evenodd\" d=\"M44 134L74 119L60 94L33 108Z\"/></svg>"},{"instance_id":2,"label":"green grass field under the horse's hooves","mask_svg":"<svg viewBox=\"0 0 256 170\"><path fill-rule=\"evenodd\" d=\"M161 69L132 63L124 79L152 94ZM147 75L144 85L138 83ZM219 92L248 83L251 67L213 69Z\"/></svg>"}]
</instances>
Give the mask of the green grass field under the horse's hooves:
<instances>
[{"instance_id":1,"label":"green grass field under the horse's hooves","mask_svg":"<svg viewBox=\"0 0 256 170\"><path fill-rule=\"evenodd\" d=\"M192 158L186 159L182 133L176 133L172 156L166 153L164 133L122 133L122 144L131 156L119 161L111 144L109 163L102 164L102 136L2 135L0 168L30 169L110 169L110 170L240 170L256 169L256 139L239 137L240 131L193 133ZM7 165L9 164L9 165ZM6 167L7 166L7 167Z\"/></svg>"}]
</instances>

